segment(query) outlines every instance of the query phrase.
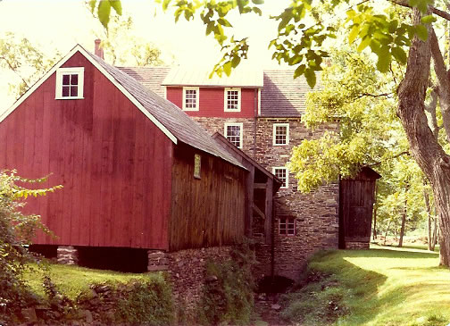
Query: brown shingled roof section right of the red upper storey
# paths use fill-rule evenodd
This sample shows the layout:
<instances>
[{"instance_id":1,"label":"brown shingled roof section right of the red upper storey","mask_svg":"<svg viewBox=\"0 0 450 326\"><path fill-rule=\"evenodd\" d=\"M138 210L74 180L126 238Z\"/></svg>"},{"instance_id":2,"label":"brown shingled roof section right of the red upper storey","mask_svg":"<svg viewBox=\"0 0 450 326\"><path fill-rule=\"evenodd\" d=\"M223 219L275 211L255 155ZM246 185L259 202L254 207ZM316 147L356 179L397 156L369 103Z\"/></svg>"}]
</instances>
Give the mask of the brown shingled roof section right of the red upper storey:
<instances>
[{"instance_id":1,"label":"brown shingled roof section right of the red upper storey","mask_svg":"<svg viewBox=\"0 0 450 326\"><path fill-rule=\"evenodd\" d=\"M317 78L313 90L321 88L320 78ZM306 112L306 94L311 91L304 76L294 79L292 69L264 71L261 116L300 117Z\"/></svg>"}]
</instances>

